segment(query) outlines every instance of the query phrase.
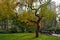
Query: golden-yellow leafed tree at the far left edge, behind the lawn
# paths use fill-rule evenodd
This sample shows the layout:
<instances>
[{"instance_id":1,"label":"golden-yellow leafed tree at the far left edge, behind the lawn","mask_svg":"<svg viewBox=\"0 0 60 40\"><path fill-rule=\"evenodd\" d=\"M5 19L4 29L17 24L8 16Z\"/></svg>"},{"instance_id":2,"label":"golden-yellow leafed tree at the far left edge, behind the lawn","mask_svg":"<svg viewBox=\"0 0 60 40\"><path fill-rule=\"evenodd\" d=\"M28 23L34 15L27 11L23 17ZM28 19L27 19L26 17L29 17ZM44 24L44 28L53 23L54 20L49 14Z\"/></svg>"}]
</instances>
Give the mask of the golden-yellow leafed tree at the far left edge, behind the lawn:
<instances>
[{"instance_id":1,"label":"golden-yellow leafed tree at the far left edge, behind the lawn","mask_svg":"<svg viewBox=\"0 0 60 40\"><path fill-rule=\"evenodd\" d=\"M9 25L9 20L11 20L13 17L16 16L15 12L12 10L11 6L8 3L9 1L4 0L0 4L0 15L1 15L1 23L2 23L2 28L8 29Z\"/></svg>"}]
</instances>

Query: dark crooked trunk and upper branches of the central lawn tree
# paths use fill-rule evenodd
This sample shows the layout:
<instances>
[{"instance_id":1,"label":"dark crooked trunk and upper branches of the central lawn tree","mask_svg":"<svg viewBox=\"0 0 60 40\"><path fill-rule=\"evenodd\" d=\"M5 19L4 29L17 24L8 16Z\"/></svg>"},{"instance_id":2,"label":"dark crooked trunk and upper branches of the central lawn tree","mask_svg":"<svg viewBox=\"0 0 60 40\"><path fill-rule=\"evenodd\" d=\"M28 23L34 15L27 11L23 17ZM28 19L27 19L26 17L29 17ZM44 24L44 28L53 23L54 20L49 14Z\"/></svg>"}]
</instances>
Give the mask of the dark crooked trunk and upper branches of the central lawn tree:
<instances>
[{"instance_id":1,"label":"dark crooked trunk and upper branches of the central lawn tree","mask_svg":"<svg viewBox=\"0 0 60 40\"><path fill-rule=\"evenodd\" d=\"M34 12L34 15L37 17L37 20L36 21L33 21L33 20L29 20L30 22L34 22L36 24L36 37L38 37L38 34L39 34L39 23L40 21L42 20L42 18L44 17L43 13L45 13L45 9L47 8L46 6L50 3L51 0L45 0L44 2L42 2L43 0L39 0L40 4L38 8L34 8L34 3L35 0L26 0L25 1L25 5L24 6L27 6L28 8L31 9L31 11L35 11ZM23 5L23 4L22 4ZM35 5L36 6L36 5ZM45 11L45 12L43 12ZM38 13L39 12L39 13ZM42 15L39 15L39 14L42 14ZM26 18L25 18L26 19ZM26 20L27 21L27 20Z\"/></svg>"}]
</instances>

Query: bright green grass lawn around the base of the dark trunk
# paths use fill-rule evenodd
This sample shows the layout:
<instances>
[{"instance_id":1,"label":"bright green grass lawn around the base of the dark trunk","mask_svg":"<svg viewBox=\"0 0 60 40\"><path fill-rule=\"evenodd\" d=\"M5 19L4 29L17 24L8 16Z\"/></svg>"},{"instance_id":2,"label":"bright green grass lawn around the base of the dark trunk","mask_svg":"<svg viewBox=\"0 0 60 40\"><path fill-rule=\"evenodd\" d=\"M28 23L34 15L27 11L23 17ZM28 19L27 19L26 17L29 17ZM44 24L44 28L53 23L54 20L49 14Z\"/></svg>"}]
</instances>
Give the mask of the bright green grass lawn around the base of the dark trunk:
<instances>
[{"instance_id":1,"label":"bright green grass lawn around the base of the dark trunk","mask_svg":"<svg viewBox=\"0 0 60 40\"><path fill-rule=\"evenodd\" d=\"M39 38L35 38L34 33L15 33L0 34L0 40L60 40L60 37L40 34Z\"/></svg>"}]
</instances>

